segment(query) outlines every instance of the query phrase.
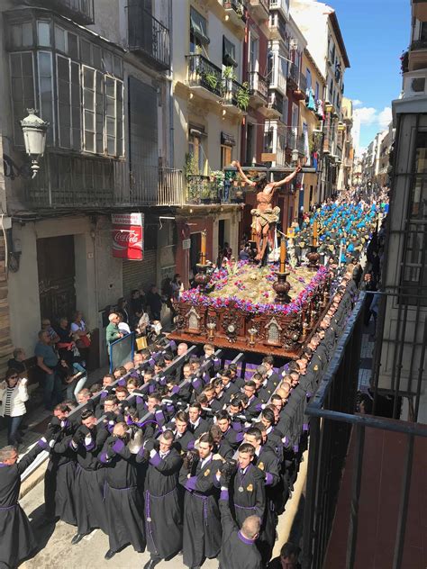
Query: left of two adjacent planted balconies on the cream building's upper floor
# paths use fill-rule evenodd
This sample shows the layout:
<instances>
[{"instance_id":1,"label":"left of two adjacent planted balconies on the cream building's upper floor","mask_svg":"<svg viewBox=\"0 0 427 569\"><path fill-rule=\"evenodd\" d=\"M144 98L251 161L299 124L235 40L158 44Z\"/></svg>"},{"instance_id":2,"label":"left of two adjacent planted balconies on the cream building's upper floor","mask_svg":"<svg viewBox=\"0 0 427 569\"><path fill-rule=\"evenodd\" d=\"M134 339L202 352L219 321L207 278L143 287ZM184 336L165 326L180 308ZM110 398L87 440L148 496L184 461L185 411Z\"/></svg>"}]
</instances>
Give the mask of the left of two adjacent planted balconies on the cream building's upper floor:
<instances>
[{"instance_id":1,"label":"left of two adjacent planted balconies on the cream building's upper floor","mask_svg":"<svg viewBox=\"0 0 427 569\"><path fill-rule=\"evenodd\" d=\"M200 53L187 55L187 84L197 95L211 101L223 96L223 71Z\"/></svg>"}]
</instances>

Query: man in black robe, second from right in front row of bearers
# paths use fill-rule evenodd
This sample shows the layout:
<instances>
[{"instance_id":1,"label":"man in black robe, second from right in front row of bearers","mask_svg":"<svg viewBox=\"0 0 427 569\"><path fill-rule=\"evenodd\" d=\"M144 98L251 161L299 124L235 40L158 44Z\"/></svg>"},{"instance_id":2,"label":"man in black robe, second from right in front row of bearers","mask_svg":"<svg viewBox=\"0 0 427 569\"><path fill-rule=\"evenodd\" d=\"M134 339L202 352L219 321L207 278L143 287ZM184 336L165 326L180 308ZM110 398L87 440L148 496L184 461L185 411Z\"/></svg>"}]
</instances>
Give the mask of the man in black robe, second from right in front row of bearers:
<instances>
[{"instance_id":1,"label":"man in black robe, second from right in front row of bearers","mask_svg":"<svg viewBox=\"0 0 427 569\"><path fill-rule=\"evenodd\" d=\"M215 474L222 465L211 455L203 468L198 462L195 475L188 473L185 466L179 473L179 483L186 489L183 561L187 567L202 565L206 557L212 559L220 552L222 534Z\"/></svg>"}]
</instances>

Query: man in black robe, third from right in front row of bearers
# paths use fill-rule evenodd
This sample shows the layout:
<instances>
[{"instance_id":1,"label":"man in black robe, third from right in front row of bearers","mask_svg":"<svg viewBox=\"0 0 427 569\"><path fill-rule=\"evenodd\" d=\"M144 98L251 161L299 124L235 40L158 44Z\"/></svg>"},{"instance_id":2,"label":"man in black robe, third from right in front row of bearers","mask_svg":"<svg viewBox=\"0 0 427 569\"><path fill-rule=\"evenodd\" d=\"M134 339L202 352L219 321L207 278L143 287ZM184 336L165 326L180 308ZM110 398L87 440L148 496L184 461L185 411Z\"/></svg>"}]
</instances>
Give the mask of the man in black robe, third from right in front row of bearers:
<instances>
[{"instance_id":1,"label":"man in black robe, third from right in front row of bearers","mask_svg":"<svg viewBox=\"0 0 427 569\"><path fill-rule=\"evenodd\" d=\"M147 549L167 559L182 548L182 514L178 475L182 458L172 448L167 456L151 453L144 492L144 518Z\"/></svg>"}]
</instances>

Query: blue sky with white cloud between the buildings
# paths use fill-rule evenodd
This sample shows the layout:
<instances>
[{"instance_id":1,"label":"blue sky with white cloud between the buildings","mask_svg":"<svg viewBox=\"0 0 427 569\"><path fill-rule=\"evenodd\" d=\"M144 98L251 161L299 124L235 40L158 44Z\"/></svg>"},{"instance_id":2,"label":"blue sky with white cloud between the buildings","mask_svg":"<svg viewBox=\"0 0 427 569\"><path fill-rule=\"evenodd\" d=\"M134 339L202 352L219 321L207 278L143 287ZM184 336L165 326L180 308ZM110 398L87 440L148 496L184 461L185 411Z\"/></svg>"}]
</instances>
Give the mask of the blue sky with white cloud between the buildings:
<instances>
[{"instance_id":1,"label":"blue sky with white cloud between the buildings","mask_svg":"<svg viewBox=\"0 0 427 569\"><path fill-rule=\"evenodd\" d=\"M355 101L360 146L367 147L391 117L402 88L400 56L409 44L410 0L332 0L350 59L344 95Z\"/></svg>"}]
</instances>

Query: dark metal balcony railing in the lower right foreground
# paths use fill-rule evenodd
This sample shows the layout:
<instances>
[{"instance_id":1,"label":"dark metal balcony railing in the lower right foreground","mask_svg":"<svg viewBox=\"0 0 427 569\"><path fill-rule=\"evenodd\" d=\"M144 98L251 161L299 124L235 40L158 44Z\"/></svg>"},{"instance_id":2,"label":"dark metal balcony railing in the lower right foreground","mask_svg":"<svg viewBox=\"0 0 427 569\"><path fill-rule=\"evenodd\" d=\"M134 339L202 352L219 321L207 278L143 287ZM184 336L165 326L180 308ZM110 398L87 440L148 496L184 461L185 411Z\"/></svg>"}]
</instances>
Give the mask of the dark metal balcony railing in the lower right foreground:
<instances>
[{"instance_id":1,"label":"dark metal balcony railing in the lower right foreground","mask_svg":"<svg viewBox=\"0 0 427 569\"><path fill-rule=\"evenodd\" d=\"M403 568L404 533L411 488L414 440L417 437L427 437L427 429L415 423L354 414L365 298L365 293L360 294L330 365L323 375L322 383L305 410L310 418L310 453L304 505L304 569L320 569L325 566L352 432L355 438L354 468L345 567L352 569L355 564L367 428L403 433L406 438L393 562L393 569Z\"/></svg>"}]
</instances>

